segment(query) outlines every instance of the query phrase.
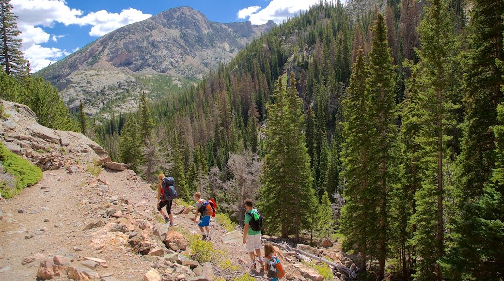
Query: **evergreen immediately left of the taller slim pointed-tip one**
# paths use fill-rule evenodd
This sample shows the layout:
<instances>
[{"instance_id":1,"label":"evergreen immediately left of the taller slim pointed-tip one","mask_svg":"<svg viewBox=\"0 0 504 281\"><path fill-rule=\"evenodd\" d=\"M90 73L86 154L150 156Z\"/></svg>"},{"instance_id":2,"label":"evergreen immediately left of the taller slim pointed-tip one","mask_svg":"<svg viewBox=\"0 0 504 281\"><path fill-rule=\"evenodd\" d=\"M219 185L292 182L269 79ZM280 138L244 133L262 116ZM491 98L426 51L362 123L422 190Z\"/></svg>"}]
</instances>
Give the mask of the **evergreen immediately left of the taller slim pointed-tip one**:
<instances>
[{"instance_id":1,"label":"evergreen immediately left of the taller slim pointed-tip one","mask_svg":"<svg viewBox=\"0 0 504 281\"><path fill-rule=\"evenodd\" d=\"M343 101L344 122L342 124L341 159L344 179L346 204L341 209L340 231L345 236L344 249L351 249L357 244L360 254L360 269L366 270L366 257L376 254L376 222L378 208L376 189L371 188L376 182L371 167L376 166L376 152L371 145L377 138L373 128L376 119L368 114L369 92L366 90L368 65L364 50L359 49L352 66L350 86L346 89L347 97Z\"/></svg>"}]
</instances>

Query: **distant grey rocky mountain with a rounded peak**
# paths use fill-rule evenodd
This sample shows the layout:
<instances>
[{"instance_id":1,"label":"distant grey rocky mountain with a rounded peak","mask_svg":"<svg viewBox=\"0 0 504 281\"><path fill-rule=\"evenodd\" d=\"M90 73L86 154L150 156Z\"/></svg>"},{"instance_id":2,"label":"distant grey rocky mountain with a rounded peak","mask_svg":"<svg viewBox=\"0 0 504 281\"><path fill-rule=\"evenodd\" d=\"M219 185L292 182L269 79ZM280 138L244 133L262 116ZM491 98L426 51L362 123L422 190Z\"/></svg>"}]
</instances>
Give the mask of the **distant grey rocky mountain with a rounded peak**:
<instances>
[{"instance_id":1,"label":"distant grey rocky mountain with a rounded peak","mask_svg":"<svg viewBox=\"0 0 504 281\"><path fill-rule=\"evenodd\" d=\"M71 109L83 99L92 114L123 92L136 96L143 87L135 86L135 75L201 79L273 26L216 23L190 7L173 8L112 31L38 74Z\"/></svg>"}]
</instances>

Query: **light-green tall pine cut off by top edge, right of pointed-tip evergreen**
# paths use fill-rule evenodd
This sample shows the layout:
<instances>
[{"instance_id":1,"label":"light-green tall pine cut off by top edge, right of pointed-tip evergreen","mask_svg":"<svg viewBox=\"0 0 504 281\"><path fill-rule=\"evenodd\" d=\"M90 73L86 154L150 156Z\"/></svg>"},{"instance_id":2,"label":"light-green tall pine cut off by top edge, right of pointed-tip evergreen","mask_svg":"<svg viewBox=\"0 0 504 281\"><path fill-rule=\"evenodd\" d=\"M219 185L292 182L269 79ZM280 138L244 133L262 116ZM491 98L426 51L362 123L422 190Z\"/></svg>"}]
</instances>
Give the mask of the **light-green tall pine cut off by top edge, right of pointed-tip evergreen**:
<instances>
[{"instance_id":1,"label":"light-green tall pine cut off by top edge, right of pointed-tip evergreen","mask_svg":"<svg viewBox=\"0 0 504 281\"><path fill-rule=\"evenodd\" d=\"M444 217L443 195L444 167L450 153L446 144L451 137L448 131L455 127L452 114L453 68L456 38L453 29L454 17L449 3L445 0L429 1L425 7L426 15L420 23L421 49L417 51L420 59L412 69L417 77L416 87L419 98L418 110L422 127L417 141L420 143L424 177L415 195L416 212L413 224L417 226L413 244L421 257L416 263L415 278L418 280L442 280L443 274L437 261L444 256ZM435 249L435 251L433 251Z\"/></svg>"}]
</instances>

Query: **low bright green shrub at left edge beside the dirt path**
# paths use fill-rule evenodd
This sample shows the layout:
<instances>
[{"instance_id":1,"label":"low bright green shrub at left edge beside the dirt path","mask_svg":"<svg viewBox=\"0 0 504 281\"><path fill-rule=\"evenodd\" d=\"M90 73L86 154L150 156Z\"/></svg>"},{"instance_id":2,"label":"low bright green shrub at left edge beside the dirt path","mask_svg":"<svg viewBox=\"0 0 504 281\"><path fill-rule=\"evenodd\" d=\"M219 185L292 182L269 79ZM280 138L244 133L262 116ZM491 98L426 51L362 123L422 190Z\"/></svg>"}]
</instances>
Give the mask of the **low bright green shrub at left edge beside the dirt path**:
<instances>
[{"instance_id":1,"label":"low bright green shrub at left edge beside the dirt path","mask_svg":"<svg viewBox=\"0 0 504 281\"><path fill-rule=\"evenodd\" d=\"M33 166L27 160L9 151L3 143L0 143L0 162L3 163L5 171L16 177L14 191L4 183L2 186L2 197L12 198L23 188L36 184L42 178L42 170Z\"/></svg>"}]
</instances>

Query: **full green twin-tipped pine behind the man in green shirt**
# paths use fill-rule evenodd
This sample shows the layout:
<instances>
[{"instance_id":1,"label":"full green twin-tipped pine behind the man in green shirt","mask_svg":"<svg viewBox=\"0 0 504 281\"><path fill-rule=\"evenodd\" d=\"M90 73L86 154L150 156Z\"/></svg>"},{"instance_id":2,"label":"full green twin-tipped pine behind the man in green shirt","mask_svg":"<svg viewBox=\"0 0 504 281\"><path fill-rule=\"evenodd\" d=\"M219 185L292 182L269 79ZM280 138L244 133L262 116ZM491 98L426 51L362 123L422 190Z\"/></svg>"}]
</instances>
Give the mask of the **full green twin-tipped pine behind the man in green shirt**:
<instances>
[{"instance_id":1,"label":"full green twin-tipped pine behind the man in green shirt","mask_svg":"<svg viewBox=\"0 0 504 281\"><path fill-rule=\"evenodd\" d=\"M304 117L295 88L294 72L285 91L282 78L274 91L275 103L268 104L266 130L265 183L261 188L261 212L267 218L268 232L290 234L299 240L302 229L309 229L314 194L309 156L302 133ZM295 204L292 204L295 202Z\"/></svg>"}]
</instances>

